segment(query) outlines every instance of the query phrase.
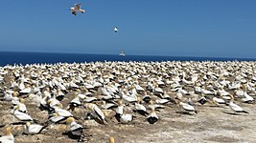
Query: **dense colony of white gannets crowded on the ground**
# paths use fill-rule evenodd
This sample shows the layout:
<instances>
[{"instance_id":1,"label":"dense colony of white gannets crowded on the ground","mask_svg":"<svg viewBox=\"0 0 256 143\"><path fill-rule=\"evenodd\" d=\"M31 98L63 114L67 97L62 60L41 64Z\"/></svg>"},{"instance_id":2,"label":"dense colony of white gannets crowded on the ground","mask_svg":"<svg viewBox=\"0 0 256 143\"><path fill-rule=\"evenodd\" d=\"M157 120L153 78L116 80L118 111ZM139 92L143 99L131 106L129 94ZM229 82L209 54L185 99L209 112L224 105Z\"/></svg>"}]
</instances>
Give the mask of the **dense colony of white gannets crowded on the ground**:
<instances>
[{"instance_id":1,"label":"dense colony of white gannets crowded on the ground","mask_svg":"<svg viewBox=\"0 0 256 143\"><path fill-rule=\"evenodd\" d=\"M13 65L0 67L1 103L12 105L19 121L3 124L2 143L14 142L12 126L37 134L47 126L65 124L63 134L82 141L86 129L78 120L122 124L135 116L149 124L158 121L159 109L177 105L178 113L196 114L195 106L229 106L231 113L248 113L235 102L253 103L256 94L255 62L95 62ZM64 106L63 101L68 100ZM39 123L26 103L48 113ZM221 105L222 104L222 105ZM175 106L176 107L176 106ZM74 113L76 112L76 116ZM110 113L109 113L110 112ZM49 130L49 129L48 129ZM109 138L114 142L114 138Z\"/></svg>"}]
</instances>

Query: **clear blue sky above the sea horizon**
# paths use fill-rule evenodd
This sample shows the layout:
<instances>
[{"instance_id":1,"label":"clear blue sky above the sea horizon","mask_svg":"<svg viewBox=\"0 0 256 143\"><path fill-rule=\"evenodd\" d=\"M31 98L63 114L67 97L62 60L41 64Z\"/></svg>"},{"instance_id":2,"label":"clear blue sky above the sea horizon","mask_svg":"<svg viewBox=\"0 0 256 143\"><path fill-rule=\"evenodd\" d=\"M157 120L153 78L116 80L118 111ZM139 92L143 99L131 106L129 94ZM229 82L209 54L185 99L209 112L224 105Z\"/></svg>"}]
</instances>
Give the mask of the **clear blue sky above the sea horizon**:
<instances>
[{"instance_id":1,"label":"clear blue sky above the sea horizon","mask_svg":"<svg viewBox=\"0 0 256 143\"><path fill-rule=\"evenodd\" d=\"M84 14L70 13L75 3ZM256 58L255 6L255 0L1 0L0 51Z\"/></svg>"}]
</instances>

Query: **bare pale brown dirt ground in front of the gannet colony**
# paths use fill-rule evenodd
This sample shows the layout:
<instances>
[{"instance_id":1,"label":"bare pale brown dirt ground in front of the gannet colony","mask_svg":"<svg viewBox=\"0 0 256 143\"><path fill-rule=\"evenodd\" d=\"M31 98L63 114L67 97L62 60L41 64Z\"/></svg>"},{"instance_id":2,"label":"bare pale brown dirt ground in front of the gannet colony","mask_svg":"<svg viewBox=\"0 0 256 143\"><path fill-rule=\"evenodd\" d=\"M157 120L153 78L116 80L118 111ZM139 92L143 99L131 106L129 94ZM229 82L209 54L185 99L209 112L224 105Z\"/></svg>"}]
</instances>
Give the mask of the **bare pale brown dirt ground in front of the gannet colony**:
<instances>
[{"instance_id":1,"label":"bare pale brown dirt ground in front of the gannet colony","mask_svg":"<svg viewBox=\"0 0 256 143\"><path fill-rule=\"evenodd\" d=\"M230 114L228 106L212 107L209 103L198 105L198 114L180 114L177 106L170 104L157 112L159 120L151 125L146 118L137 115L128 125L118 123L114 118L107 125L93 120L78 120L84 129L84 142L104 143L113 136L117 143L170 143L170 142L255 142L256 105L238 103L246 113ZM12 105L0 101L0 124L16 121L10 114ZM28 112L40 122L47 120L47 112L41 112L35 105L27 105ZM82 117L81 117L82 118ZM40 134L22 134L22 128L12 127L16 143L71 143L76 140L62 135L65 125L50 125ZM3 134L3 128L0 129Z\"/></svg>"}]
</instances>

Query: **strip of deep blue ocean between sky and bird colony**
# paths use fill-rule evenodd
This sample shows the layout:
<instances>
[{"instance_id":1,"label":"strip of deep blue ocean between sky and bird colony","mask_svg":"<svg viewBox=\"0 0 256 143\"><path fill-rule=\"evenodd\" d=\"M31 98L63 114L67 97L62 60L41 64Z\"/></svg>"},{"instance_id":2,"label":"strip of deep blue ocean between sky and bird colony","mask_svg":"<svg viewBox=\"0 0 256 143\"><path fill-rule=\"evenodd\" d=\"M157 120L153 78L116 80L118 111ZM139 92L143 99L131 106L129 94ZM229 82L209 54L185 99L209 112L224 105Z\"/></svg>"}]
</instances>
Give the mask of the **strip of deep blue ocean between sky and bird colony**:
<instances>
[{"instance_id":1,"label":"strip of deep blue ocean between sky and bird colony","mask_svg":"<svg viewBox=\"0 0 256 143\"><path fill-rule=\"evenodd\" d=\"M222 57L189 57L189 56L152 56L119 54L86 54L86 53L51 53L51 52L22 52L0 51L0 66L14 64L54 64L59 62L84 63L96 61L256 61L252 58L222 58Z\"/></svg>"}]
</instances>

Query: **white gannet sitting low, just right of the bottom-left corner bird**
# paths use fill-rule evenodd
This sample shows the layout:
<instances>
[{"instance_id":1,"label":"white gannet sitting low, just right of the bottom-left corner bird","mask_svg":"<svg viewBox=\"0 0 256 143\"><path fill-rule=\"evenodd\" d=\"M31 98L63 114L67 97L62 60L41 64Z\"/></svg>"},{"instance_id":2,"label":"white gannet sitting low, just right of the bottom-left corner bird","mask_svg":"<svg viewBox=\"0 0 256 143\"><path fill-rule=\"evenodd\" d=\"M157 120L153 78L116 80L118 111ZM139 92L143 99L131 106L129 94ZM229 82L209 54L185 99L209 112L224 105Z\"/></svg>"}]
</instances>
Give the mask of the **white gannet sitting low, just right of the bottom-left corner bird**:
<instances>
[{"instance_id":1,"label":"white gannet sitting low, just right of the bottom-left corner bird","mask_svg":"<svg viewBox=\"0 0 256 143\"><path fill-rule=\"evenodd\" d=\"M27 122L26 125L24 125L24 133L26 134L37 134L41 133L47 125L42 126L38 124L31 124L31 122Z\"/></svg>"}]
</instances>

